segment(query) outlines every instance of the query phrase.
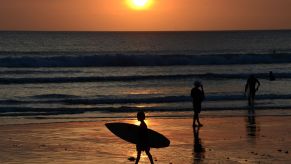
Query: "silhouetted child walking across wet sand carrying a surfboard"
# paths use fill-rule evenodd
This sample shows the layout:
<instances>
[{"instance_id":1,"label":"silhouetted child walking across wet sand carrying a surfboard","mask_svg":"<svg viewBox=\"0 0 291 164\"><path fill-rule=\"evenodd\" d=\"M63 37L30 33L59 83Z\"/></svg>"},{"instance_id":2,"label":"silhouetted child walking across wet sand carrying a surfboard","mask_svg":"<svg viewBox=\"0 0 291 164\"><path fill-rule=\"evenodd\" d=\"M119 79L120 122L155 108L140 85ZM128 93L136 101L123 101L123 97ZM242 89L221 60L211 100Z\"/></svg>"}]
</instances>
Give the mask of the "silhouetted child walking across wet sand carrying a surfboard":
<instances>
[{"instance_id":1,"label":"silhouetted child walking across wet sand carrying a surfboard","mask_svg":"<svg viewBox=\"0 0 291 164\"><path fill-rule=\"evenodd\" d=\"M137 113L137 120L140 121L139 125L139 132L138 132L138 144L136 144L136 151L137 151L137 157L135 163L138 164L140 155L142 151L145 151L149 160L151 161L151 164L154 163L153 157L150 153L150 146L149 146L149 138L148 138L148 132L147 132L147 125L144 122L145 120L145 114L143 111L140 111Z\"/></svg>"}]
</instances>

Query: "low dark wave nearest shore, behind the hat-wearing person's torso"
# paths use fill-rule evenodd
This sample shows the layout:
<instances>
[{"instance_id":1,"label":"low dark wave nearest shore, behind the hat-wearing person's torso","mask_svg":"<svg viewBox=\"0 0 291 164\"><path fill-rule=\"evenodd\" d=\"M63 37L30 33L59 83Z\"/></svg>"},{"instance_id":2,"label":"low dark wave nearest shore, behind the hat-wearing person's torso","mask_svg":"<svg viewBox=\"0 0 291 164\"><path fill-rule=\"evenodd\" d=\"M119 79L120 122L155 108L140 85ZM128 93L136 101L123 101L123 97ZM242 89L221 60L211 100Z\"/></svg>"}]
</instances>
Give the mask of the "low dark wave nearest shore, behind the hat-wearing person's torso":
<instances>
[{"instance_id":1,"label":"low dark wave nearest shore, behind the hat-wearing person's torso","mask_svg":"<svg viewBox=\"0 0 291 164\"><path fill-rule=\"evenodd\" d=\"M245 100L242 94L207 95L206 101L236 101ZM256 96L257 100L291 99L291 95L262 94ZM60 103L67 105L95 105L95 104L141 104L141 103L176 103L191 102L190 96L161 96L146 98L81 98L73 95L39 95L32 96L29 100L0 100L0 105L7 104L33 104L33 103Z\"/></svg>"}]
</instances>

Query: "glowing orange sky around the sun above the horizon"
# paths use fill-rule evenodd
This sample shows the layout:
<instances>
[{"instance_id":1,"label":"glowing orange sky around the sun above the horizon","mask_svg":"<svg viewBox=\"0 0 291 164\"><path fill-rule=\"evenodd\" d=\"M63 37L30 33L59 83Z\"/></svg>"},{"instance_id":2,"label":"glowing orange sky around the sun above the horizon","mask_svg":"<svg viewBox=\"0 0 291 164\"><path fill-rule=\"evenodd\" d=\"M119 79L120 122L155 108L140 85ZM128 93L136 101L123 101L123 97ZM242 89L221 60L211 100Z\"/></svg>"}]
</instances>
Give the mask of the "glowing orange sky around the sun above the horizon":
<instances>
[{"instance_id":1,"label":"glowing orange sky around the sun above the horizon","mask_svg":"<svg viewBox=\"0 0 291 164\"><path fill-rule=\"evenodd\" d=\"M291 29L291 0L0 0L0 30L161 31Z\"/></svg>"}]
</instances>

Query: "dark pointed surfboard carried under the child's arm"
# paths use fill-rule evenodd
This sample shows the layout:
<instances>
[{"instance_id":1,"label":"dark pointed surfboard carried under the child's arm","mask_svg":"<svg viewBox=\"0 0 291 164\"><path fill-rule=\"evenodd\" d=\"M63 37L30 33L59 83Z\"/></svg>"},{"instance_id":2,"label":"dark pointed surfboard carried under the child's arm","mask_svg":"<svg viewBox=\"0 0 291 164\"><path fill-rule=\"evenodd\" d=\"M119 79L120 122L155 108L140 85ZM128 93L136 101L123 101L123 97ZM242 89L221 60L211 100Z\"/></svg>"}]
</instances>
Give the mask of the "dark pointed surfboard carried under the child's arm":
<instances>
[{"instance_id":1,"label":"dark pointed surfboard carried under the child's arm","mask_svg":"<svg viewBox=\"0 0 291 164\"><path fill-rule=\"evenodd\" d=\"M128 123L106 123L105 126L116 136L121 139L137 144L139 126ZM151 130L148 130L149 146L152 148L164 148L170 145L170 140L164 135Z\"/></svg>"}]
</instances>

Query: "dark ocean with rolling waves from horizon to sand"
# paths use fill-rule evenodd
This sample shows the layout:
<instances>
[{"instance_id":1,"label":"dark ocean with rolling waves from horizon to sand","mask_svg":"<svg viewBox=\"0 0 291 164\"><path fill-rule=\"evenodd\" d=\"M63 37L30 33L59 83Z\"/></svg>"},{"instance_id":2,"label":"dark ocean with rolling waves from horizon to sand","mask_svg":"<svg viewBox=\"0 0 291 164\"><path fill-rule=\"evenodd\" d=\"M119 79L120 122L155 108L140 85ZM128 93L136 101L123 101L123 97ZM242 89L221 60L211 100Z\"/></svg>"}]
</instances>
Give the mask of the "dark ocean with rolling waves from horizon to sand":
<instances>
[{"instance_id":1,"label":"dark ocean with rolling waves from horizon to sand","mask_svg":"<svg viewBox=\"0 0 291 164\"><path fill-rule=\"evenodd\" d=\"M203 111L291 109L291 31L0 32L0 118L192 116ZM269 80L269 72L276 77Z\"/></svg>"}]
</instances>

